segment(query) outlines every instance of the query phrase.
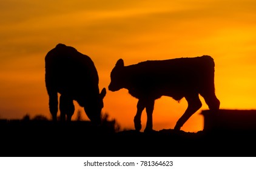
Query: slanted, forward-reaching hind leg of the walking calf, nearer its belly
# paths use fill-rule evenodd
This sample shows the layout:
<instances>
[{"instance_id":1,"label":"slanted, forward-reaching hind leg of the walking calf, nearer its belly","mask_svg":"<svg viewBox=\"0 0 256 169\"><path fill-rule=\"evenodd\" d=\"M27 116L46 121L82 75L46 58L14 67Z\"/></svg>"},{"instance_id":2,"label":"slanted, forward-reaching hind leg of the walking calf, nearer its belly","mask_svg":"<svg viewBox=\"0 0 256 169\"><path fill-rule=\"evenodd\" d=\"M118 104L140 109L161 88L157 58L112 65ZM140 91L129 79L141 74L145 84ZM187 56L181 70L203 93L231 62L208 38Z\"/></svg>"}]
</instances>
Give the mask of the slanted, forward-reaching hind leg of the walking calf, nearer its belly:
<instances>
[{"instance_id":1,"label":"slanted, forward-reaching hind leg of the walking calf, nearer its belly","mask_svg":"<svg viewBox=\"0 0 256 169\"><path fill-rule=\"evenodd\" d=\"M181 118L177 121L174 130L180 130L183 124L186 123L187 120L189 120L190 116L197 112L197 110L199 110L200 107L202 106L198 94L187 95L185 98L188 104L187 109L181 116Z\"/></svg>"}]
</instances>

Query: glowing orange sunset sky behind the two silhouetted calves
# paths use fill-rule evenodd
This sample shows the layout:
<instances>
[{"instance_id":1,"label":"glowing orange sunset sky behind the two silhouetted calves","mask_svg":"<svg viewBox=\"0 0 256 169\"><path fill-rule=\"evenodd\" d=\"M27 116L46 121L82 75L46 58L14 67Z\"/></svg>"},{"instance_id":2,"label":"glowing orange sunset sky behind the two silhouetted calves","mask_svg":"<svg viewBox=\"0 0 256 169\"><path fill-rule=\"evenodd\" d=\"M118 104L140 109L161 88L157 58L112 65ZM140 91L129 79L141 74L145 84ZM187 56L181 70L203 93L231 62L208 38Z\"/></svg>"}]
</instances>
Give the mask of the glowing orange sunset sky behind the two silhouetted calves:
<instances>
[{"instance_id":1,"label":"glowing orange sunset sky behind the two silhouetted calves","mask_svg":"<svg viewBox=\"0 0 256 169\"><path fill-rule=\"evenodd\" d=\"M50 118L44 57L57 43L91 57L99 89L110 83L118 59L145 60L210 55L215 60L221 109L256 109L256 1L32 1L1 0L0 118ZM78 80L79 81L79 80ZM203 129L201 110L181 130ZM133 128L137 99L126 89L107 90L103 112L123 129ZM187 102L155 101L153 129L173 129ZM76 104L77 110L83 110ZM76 113L73 119L76 118ZM87 116L83 110L83 117ZM142 116L144 130L146 112Z\"/></svg>"}]
</instances>

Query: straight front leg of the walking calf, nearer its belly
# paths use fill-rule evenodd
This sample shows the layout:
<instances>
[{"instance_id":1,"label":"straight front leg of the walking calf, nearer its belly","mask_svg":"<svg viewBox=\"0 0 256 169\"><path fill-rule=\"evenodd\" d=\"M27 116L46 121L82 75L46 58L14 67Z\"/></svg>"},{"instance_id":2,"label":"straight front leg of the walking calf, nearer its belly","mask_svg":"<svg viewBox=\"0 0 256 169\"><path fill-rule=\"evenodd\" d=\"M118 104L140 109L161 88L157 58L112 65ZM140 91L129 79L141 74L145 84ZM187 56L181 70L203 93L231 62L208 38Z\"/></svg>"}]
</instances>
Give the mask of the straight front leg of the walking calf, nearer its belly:
<instances>
[{"instance_id":1,"label":"straight front leg of the walking calf, nearer its belly","mask_svg":"<svg viewBox=\"0 0 256 169\"><path fill-rule=\"evenodd\" d=\"M147 100L146 112L147 112L147 124L144 132L152 132L153 130L153 107L155 100Z\"/></svg>"}]
</instances>

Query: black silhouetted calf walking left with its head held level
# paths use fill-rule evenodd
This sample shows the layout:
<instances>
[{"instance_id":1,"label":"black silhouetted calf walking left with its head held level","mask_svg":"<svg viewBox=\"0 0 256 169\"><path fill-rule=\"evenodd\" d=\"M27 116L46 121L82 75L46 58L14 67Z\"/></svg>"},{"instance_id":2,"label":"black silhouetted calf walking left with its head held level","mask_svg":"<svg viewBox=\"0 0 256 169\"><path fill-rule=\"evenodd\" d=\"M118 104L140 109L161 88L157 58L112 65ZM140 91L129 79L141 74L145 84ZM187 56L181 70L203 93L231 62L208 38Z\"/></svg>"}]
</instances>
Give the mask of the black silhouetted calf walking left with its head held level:
<instances>
[{"instance_id":1,"label":"black silhouetted calf walking left with its head held level","mask_svg":"<svg viewBox=\"0 0 256 169\"><path fill-rule=\"evenodd\" d=\"M120 59L110 74L109 90L125 88L130 95L138 98L133 120L138 131L141 130L141 113L146 107L147 123L144 132L153 130L152 113L156 99L163 95L177 101L186 98L187 109L174 127L174 130L180 130L202 106L199 94L210 110L218 111L220 101L215 95L214 67L211 56L150 60L129 66L124 66L124 61Z\"/></svg>"}]
</instances>

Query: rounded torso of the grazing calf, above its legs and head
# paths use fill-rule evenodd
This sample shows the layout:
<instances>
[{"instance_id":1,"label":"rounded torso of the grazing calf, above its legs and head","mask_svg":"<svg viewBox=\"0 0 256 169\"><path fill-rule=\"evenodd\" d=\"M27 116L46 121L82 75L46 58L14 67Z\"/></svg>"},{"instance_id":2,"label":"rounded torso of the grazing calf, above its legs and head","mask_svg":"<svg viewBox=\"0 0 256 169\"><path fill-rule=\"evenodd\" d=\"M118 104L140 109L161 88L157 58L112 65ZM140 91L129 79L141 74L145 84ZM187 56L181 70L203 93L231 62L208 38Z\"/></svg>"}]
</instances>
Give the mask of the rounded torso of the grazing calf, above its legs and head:
<instances>
[{"instance_id":1,"label":"rounded torso of the grazing calf, above its legs and head","mask_svg":"<svg viewBox=\"0 0 256 169\"><path fill-rule=\"evenodd\" d=\"M77 97L98 89L98 73L89 56L58 44L45 56L46 87Z\"/></svg>"}]
</instances>

